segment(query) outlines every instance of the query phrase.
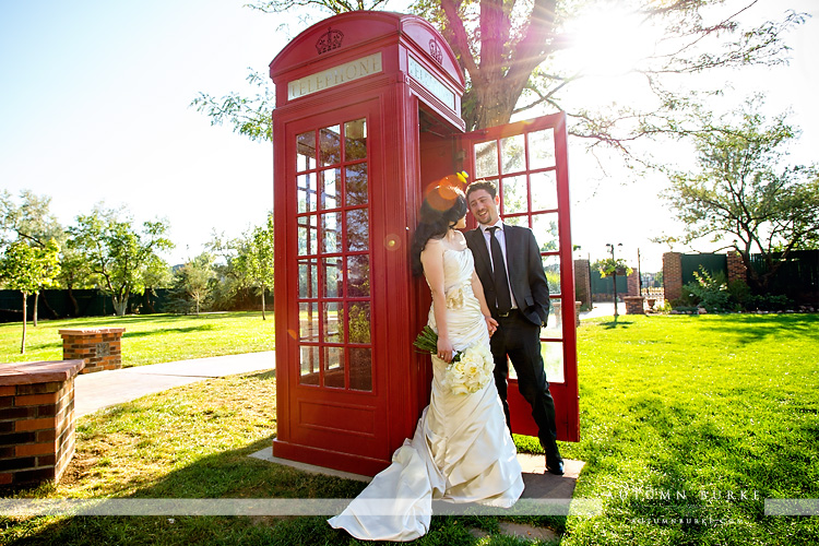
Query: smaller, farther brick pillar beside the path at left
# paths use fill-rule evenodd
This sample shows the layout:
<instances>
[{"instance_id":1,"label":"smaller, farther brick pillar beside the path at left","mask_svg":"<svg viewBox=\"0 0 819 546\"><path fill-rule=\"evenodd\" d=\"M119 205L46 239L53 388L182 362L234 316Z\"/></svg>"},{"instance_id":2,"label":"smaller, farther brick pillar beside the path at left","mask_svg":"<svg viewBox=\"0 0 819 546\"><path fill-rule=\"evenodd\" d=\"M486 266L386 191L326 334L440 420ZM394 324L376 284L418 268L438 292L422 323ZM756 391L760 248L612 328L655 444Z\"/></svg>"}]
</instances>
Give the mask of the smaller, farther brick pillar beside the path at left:
<instances>
[{"instance_id":1,"label":"smaller, farther brick pillar beside the path at left","mask_svg":"<svg viewBox=\"0 0 819 546\"><path fill-rule=\"evenodd\" d=\"M122 367L122 332L124 328L86 328L60 330L62 358L83 360L82 373L118 370Z\"/></svg>"}]
</instances>

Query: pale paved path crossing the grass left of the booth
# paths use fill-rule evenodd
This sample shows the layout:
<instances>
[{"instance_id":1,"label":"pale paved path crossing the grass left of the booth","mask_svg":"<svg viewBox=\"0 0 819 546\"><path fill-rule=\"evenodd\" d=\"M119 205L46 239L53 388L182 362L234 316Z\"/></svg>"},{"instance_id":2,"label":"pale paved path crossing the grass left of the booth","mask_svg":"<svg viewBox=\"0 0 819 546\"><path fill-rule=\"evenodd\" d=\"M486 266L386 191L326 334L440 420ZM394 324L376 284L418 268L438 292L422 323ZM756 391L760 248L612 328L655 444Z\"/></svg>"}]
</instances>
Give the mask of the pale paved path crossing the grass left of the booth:
<instances>
[{"instance_id":1,"label":"pale paved path crossing the grass left of the booth","mask_svg":"<svg viewBox=\"0 0 819 546\"><path fill-rule=\"evenodd\" d=\"M80 417L181 384L273 368L275 352L269 351L83 373L74 380L74 414Z\"/></svg>"}]
</instances>

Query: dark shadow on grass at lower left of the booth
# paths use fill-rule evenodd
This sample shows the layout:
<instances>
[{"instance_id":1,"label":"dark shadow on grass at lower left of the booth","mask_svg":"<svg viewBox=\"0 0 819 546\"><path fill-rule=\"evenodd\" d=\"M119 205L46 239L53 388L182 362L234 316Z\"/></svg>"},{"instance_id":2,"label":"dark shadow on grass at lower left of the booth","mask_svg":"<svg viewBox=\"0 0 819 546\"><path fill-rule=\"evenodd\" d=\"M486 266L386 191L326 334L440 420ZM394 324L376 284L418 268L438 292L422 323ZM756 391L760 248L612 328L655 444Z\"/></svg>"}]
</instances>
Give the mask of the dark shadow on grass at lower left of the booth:
<instances>
[{"instance_id":1,"label":"dark shadow on grass at lower left of the booth","mask_svg":"<svg viewBox=\"0 0 819 546\"><path fill-rule=\"evenodd\" d=\"M249 456L270 447L273 436L241 449L204 456L158 479L146 483L129 499L252 499L353 498L365 486L358 482L299 472ZM93 470L91 471L93 472ZM325 518L288 515L190 517L109 515L55 519L14 544L336 544L344 533ZM8 524L8 522L7 522ZM301 536L304 541L299 541Z\"/></svg>"}]
</instances>

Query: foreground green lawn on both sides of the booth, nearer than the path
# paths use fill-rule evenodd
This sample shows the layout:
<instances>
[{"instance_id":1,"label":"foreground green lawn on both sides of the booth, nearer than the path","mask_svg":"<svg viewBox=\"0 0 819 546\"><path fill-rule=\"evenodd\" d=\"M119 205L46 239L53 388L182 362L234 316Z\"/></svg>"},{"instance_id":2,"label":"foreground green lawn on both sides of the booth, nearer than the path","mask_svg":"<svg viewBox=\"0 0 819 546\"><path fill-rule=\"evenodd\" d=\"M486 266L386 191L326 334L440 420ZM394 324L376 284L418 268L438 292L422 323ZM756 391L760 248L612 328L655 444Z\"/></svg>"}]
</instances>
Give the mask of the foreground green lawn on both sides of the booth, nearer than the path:
<instances>
[{"instance_id":1,"label":"foreground green lawn on both sides of the booth, nearer than the path","mask_svg":"<svg viewBox=\"0 0 819 546\"><path fill-rule=\"evenodd\" d=\"M765 498L819 498L817 347L816 314L584 321L581 441L561 450L586 462L575 497L601 499L603 513L529 521L566 545L819 543L818 517L763 514ZM272 372L224 378L83 417L66 478L33 495L355 495L359 483L247 456L275 435L274 385ZM415 544L531 544L477 539L467 526L498 529L494 518L434 518ZM0 520L4 543L358 544L323 518L244 517Z\"/></svg>"}]
</instances>

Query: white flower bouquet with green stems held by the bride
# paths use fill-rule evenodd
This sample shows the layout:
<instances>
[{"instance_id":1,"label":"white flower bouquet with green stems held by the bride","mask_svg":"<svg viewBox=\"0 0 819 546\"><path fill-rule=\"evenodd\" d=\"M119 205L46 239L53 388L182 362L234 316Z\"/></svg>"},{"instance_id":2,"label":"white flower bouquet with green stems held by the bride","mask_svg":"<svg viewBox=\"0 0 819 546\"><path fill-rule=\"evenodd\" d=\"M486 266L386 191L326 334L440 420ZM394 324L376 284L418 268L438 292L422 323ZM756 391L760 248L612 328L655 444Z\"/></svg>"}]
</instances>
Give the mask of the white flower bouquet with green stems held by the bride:
<instances>
[{"instance_id":1,"label":"white flower bouquet with green stems held by the bride","mask_svg":"<svg viewBox=\"0 0 819 546\"><path fill-rule=\"evenodd\" d=\"M422 353L432 356L438 354L438 334L428 325L418 334L413 343ZM468 394L477 392L492 380L495 360L486 344L477 343L464 351L456 351L452 361L447 366L443 376L443 387L453 394Z\"/></svg>"}]
</instances>

